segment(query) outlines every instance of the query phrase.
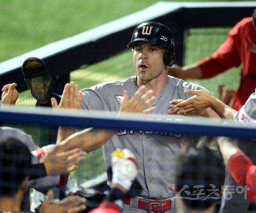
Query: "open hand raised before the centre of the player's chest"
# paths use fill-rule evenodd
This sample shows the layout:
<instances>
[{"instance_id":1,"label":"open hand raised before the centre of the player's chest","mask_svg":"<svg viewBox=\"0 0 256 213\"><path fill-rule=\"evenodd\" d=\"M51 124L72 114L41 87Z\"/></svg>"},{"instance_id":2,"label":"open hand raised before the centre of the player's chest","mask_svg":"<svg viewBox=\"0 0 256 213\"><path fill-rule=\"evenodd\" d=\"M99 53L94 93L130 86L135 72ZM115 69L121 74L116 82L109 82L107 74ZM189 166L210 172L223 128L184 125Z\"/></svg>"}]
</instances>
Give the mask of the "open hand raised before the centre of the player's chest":
<instances>
[{"instance_id":1,"label":"open hand raised before the centre of the player's chest","mask_svg":"<svg viewBox=\"0 0 256 213\"><path fill-rule=\"evenodd\" d=\"M155 110L155 106L147 108L154 100L156 96L153 95L153 90L148 90L146 86L141 86L129 100L129 94L124 90L124 98L121 103L119 113L123 112L139 112L150 113Z\"/></svg>"}]
</instances>

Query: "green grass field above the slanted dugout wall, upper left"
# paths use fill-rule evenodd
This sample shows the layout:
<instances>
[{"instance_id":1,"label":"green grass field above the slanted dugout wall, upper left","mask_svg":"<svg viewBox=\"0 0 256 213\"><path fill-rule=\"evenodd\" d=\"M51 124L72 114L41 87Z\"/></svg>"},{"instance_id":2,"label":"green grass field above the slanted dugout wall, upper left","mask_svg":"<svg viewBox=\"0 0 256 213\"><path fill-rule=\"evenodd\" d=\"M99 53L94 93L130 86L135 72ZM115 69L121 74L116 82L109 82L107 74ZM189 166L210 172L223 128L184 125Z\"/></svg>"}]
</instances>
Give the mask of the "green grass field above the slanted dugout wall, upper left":
<instances>
[{"instance_id":1,"label":"green grass field above the slanted dugout wall, upper left","mask_svg":"<svg viewBox=\"0 0 256 213\"><path fill-rule=\"evenodd\" d=\"M0 62L156 2L158 0L1 0Z\"/></svg>"}]
</instances>

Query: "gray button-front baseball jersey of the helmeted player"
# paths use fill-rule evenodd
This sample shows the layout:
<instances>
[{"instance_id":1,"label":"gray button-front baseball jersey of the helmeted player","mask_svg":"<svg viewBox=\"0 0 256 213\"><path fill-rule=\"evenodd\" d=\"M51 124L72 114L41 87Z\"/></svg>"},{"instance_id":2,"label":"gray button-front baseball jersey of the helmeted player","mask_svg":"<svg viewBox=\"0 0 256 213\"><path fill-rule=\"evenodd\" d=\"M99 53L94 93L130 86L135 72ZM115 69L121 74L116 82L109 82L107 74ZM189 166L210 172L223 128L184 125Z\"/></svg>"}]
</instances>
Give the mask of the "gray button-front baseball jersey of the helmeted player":
<instances>
[{"instance_id":1,"label":"gray button-front baseball jersey of the helmeted player","mask_svg":"<svg viewBox=\"0 0 256 213\"><path fill-rule=\"evenodd\" d=\"M126 89L132 98L138 88L137 78L132 76L123 81L104 82L82 89L82 108L117 112L123 99L123 90ZM184 92L185 88L206 90L197 84L169 76L167 85L151 105L156 107L152 113L167 115L169 107L174 106L170 105L171 100L191 96ZM184 136L179 133L119 130L103 145L105 165L110 166L111 152L116 148L129 148L140 167L137 177L143 187L140 196L151 199L173 197L176 191L175 157Z\"/></svg>"}]
</instances>

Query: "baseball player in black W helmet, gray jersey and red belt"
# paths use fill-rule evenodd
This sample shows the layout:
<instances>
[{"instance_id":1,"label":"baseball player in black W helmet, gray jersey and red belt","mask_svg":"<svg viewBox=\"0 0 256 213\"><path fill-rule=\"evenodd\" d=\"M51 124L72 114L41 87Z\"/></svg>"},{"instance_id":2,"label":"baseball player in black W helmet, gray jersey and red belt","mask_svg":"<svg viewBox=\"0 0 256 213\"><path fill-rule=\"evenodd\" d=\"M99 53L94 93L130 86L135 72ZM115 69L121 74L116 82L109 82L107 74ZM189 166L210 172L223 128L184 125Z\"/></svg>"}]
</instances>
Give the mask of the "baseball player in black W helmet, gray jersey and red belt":
<instances>
[{"instance_id":1,"label":"baseball player in black W helmet, gray jersey and red belt","mask_svg":"<svg viewBox=\"0 0 256 213\"><path fill-rule=\"evenodd\" d=\"M82 108L116 113L123 100L123 90L131 98L140 86L145 85L156 96L149 105L155 107L153 113L167 115L168 109L174 107L170 100L191 96L184 89L206 90L167 74L168 66L173 64L175 51L172 32L164 24L147 21L138 25L127 47L132 48L137 75L82 89ZM111 152L116 148L129 148L140 167L137 178L142 185L142 193L140 197L125 200L124 212L176 211L178 199L175 198L174 166L184 137L176 132L121 129L103 145L106 168L110 166Z\"/></svg>"}]
</instances>

